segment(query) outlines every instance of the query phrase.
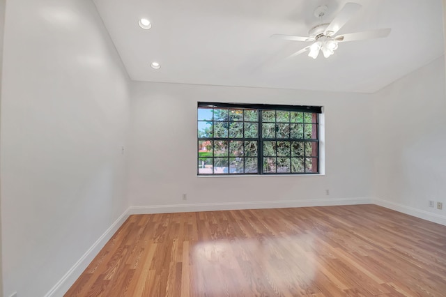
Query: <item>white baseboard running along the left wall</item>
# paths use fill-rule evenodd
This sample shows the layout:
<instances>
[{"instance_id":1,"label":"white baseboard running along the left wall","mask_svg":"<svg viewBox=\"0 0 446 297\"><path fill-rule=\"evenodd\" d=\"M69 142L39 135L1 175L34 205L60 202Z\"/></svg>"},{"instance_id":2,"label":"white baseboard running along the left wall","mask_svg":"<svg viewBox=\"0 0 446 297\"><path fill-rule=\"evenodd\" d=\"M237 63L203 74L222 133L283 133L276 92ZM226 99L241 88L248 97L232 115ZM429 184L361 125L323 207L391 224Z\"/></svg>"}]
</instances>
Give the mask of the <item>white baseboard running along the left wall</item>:
<instances>
[{"instance_id":1,"label":"white baseboard running along the left wall","mask_svg":"<svg viewBox=\"0 0 446 297\"><path fill-rule=\"evenodd\" d=\"M57 284L52 287L51 290L45 295L45 297L59 297L66 294L66 291L70 289L72 284L75 283L79 275L81 275L84 270L89 266L91 261L99 254L100 250L104 247L104 245L109 241L110 238L118 231L119 227L127 220L128 211L125 211L114 223L112 226L107 229L107 231L100 236L100 238L93 243L91 248L85 252L85 254L76 262L70 270L63 275L61 280L57 282Z\"/></svg>"}]
</instances>

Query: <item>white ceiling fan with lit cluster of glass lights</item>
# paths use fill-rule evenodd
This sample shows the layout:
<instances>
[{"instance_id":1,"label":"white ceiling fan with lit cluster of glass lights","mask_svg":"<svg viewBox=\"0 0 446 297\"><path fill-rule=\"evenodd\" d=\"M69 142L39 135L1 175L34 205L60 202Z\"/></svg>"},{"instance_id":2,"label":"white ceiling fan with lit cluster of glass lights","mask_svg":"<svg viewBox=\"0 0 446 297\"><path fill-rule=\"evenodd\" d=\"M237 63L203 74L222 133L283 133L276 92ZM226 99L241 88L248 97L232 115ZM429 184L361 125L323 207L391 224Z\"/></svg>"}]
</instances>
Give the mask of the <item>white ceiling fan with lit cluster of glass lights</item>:
<instances>
[{"instance_id":1,"label":"white ceiling fan with lit cluster of glass lights","mask_svg":"<svg viewBox=\"0 0 446 297\"><path fill-rule=\"evenodd\" d=\"M274 34L271 37L284 40L312 42L312 45L304 47L302 50L295 52L294 54L289 56L289 58L298 56L299 54L302 54L309 50L308 56L311 56L313 59L316 59L318 57L319 52L322 52L323 56L325 56L325 58L328 58L329 56L334 54L334 50L337 49L338 43L387 37L391 31L391 29L389 28L336 35L337 31L339 31L339 29L341 29L342 26L344 26L344 24L346 24L346 22L348 22L348 20L350 20L351 17L353 17L353 15L361 7L362 6L358 3L346 3L346 5L341 9L337 16L334 17L334 20L332 20L332 22L321 23L314 26L312 29L309 30L309 36L307 37L283 34ZM327 11L327 6L318 6L318 8L314 10L314 15L316 17L320 17L322 20Z\"/></svg>"}]
</instances>

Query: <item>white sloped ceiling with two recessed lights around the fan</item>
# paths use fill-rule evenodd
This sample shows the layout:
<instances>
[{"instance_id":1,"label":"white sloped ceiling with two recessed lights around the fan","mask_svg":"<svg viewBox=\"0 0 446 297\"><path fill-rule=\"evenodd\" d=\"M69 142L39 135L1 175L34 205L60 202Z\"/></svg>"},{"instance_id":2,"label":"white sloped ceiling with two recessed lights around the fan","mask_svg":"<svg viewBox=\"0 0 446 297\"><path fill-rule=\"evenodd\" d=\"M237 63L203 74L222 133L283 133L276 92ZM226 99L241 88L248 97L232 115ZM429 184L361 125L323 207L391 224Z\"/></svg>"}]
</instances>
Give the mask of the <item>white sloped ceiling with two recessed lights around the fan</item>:
<instances>
[{"instance_id":1,"label":"white sloped ceiling with two recessed lights around the fan","mask_svg":"<svg viewBox=\"0 0 446 297\"><path fill-rule=\"evenodd\" d=\"M340 0L93 0L134 80L373 93L444 52L441 0L355 0L362 8L339 31L392 28L382 39L339 43L330 58L272 34L307 36ZM141 17L151 20L140 29ZM150 67L152 61L160 70Z\"/></svg>"}]
</instances>

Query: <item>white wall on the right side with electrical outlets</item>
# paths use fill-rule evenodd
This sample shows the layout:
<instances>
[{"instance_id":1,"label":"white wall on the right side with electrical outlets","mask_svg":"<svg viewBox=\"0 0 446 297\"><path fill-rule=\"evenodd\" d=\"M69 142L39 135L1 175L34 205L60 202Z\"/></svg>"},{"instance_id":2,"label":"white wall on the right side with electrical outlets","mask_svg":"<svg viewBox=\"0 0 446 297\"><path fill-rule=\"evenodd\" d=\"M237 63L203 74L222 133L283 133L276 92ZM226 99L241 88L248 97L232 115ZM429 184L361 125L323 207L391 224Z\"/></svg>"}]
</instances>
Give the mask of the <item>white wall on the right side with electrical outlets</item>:
<instances>
[{"instance_id":1,"label":"white wall on the right side with electrical outlets","mask_svg":"<svg viewBox=\"0 0 446 297\"><path fill-rule=\"evenodd\" d=\"M373 119L376 203L446 224L443 56L374 94Z\"/></svg>"}]
</instances>

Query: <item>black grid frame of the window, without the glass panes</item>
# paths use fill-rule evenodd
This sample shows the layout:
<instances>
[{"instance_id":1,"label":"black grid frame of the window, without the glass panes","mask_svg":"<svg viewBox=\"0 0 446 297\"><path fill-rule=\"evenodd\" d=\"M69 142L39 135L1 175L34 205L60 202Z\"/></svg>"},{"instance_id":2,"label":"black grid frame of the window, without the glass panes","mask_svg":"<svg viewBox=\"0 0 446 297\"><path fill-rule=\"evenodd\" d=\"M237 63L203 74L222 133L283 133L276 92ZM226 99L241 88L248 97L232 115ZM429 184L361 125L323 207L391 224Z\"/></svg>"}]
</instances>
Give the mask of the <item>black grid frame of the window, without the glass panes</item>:
<instances>
[{"instance_id":1,"label":"black grid frame of the window, without the glass panes","mask_svg":"<svg viewBox=\"0 0 446 297\"><path fill-rule=\"evenodd\" d=\"M307 105L266 105L266 104L240 104L240 103L222 103L222 102L197 102L197 175L198 176L240 176L240 175L302 175L302 174L321 174L321 166L320 166L320 114L323 112L323 107L321 106L307 106ZM212 120L200 120L199 119L199 109L228 109L228 116L226 119L221 120L215 120L214 111L212 112ZM237 110L237 109L243 109L243 115L245 115L245 110L255 110L257 113L257 119L256 121L245 121L245 116L243 116L243 119L241 121L231 121L230 119L230 110ZM263 112L275 112L275 120L274 121L264 121L263 120ZM289 112L289 120L287 122L284 121L277 121L277 112ZM291 112L298 112L302 113L302 122L293 122L291 120ZM308 122L305 121L307 119L306 114L312 114L312 121ZM200 137L199 135L199 125L200 123L212 123L212 136L206 136L206 137ZM227 125L227 135L225 137L216 137L215 135L215 123L220 123L220 125ZM236 123L242 123L242 130L243 135L242 137L230 137L229 133L231 132L230 125L231 123L235 125ZM245 137L245 130L246 125L245 123L256 123L257 124L257 135L256 137ZM263 124L269 124L274 125L275 130L275 137L263 137ZM288 125L289 129L289 137L277 137L277 131L279 125L282 125L282 127L286 130L286 125ZM292 126L294 125L294 126ZM291 127L297 127L297 125L302 125L302 137L295 138L291 137ZM305 128L307 126L312 125L312 136L310 138L306 138L305 136ZM314 130L316 129L316 137L314 138ZM212 156L202 157L200 156L200 148L206 142L210 142L212 146ZM215 156L215 142L218 142L220 144L224 144L224 142L227 142L227 144L224 144L226 146L227 155L224 156ZM231 158L237 159L237 157L231 156L230 149L231 144L233 143L240 143L243 146L243 156L239 157L238 159L241 160L243 158L243 172L236 172L231 173ZM256 155L250 156L246 155L245 146L247 142L257 142L257 148L256 148ZM263 155L264 151L263 148L266 144L270 145L270 142L275 142L275 155ZM290 153L289 155L277 155L277 148L280 145L285 145L285 143L288 143ZM303 155L293 155L293 147L295 146L301 146L303 145ZM307 155L307 146L311 145L312 153L311 155ZM273 146L274 147L274 146ZM314 153L316 152L316 155ZM220 159L226 159L227 165L223 166L228 169L228 172L225 173L215 173L215 162L216 160ZM246 172L247 165L246 162L249 158L255 158L257 165L256 165L256 172ZM267 158L268 161L270 159L275 158L275 172L264 172L264 159ZM289 172L277 172L277 163L279 161L279 158L283 162L283 160L288 159L289 164ZM199 162L202 162L203 166L205 162L203 160L206 159L212 159L212 172L210 173L200 173L200 167ZM295 161L300 162L300 160L303 160L303 172L293 172L293 159ZM308 159L308 160L307 160ZM312 161L312 172L307 172L307 162ZM224 161L224 160L223 160ZM222 161L222 162L223 162ZM250 160L252 161L252 160ZM316 165L314 165L314 162L316 162ZM225 163L226 164L226 163ZM316 172L314 172L314 167L316 166ZM280 168L286 168L286 167L280 167ZM203 167L201 168L203 169Z\"/></svg>"}]
</instances>

